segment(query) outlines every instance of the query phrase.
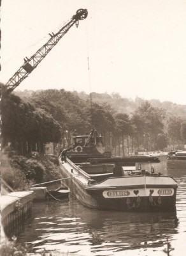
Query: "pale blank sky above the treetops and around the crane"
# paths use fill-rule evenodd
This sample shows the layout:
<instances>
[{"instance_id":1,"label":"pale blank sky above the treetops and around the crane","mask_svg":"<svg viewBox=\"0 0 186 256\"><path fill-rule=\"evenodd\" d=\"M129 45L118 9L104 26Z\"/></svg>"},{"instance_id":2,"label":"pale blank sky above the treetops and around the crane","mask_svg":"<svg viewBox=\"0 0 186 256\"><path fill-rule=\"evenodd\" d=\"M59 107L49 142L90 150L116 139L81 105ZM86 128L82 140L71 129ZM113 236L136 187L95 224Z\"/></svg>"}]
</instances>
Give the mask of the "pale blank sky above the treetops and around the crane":
<instances>
[{"instance_id":1,"label":"pale blank sky above the treetops and around the crane","mask_svg":"<svg viewBox=\"0 0 186 256\"><path fill-rule=\"evenodd\" d=\"M119 93L186 104L185 0L2 0L1 75L8 82L76 10L80 20L16 90ZM89 59L89 69L88 69Z\"/></svg>"}]
</instances>

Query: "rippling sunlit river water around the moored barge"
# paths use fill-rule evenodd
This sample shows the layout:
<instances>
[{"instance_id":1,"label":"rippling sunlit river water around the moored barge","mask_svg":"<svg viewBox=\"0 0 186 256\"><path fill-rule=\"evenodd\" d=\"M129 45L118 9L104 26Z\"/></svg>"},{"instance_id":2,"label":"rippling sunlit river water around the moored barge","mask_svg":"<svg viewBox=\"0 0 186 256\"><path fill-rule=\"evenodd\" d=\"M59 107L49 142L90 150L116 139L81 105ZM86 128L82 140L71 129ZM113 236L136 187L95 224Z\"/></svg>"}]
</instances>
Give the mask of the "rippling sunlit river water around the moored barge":
<instances>
[{"instance_id":1,"label":"rippling sunlit river water around the moored barge","mask_svg":"<svg viewBox=\"0 0 186 256\"><path fill-rule=\"evenodd\" d=\"M149 167L149 166L148 166ZM166 158L155 170L178 182L176 212L130 213L98 211L75 198L34 203L31 220L18 243L32 252L71 252L75 255L170 256L186 250L186 170L167 170Z\"/></svg>"}]
</instances>

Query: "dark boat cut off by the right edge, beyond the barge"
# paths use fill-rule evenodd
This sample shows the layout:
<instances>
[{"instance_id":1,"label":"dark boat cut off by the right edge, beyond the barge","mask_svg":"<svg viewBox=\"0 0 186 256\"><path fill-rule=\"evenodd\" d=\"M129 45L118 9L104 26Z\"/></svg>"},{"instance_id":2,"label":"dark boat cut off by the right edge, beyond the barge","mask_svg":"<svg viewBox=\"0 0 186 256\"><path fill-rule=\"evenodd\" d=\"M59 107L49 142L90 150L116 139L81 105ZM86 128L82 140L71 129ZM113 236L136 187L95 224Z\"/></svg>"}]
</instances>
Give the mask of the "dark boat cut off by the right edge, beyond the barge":
<instances>
[{"instance_id":1,"label":"dark boat cut off by the right edge, beyond the barge","mask_svg":"<svg viewBox=\"0 0 186 256\"><path fill-rule=\"evenodd\" d=\"M168 168L183 169L186 171L186 150L170 151L167 156Z\"/></svg>"}]
</instances>

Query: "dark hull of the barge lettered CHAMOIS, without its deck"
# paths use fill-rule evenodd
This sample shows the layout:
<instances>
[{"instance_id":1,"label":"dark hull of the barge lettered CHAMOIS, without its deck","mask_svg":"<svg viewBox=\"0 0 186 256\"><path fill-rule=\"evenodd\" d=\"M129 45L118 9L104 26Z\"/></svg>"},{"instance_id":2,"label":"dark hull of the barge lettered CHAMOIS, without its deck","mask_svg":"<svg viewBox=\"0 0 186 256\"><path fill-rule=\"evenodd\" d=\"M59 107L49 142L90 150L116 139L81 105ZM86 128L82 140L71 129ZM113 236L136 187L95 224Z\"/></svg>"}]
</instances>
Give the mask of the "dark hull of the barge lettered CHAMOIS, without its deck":
<instances>
[{"instance_id":1,"label":"dark hull of the barge lettered CHAMOIS, without its deck","mask_svg":"<svg viewBox=\"0 0 186 256\"><path fill-rule=\"evenodd\" d=\"M176 182L175 184L167 185L147 184L146 189L148 195L141 196L141 194L144 193L143 185L136 184L132 186L117 187L106 187L104 184L103 186L97 186L97 184L90 185L88 184L88 175L87 177L81 177L80 173L75 170L75 164L62 163L61 161L59 161L59 163L61 166L62 177L66 178L63 180L64 184L70 189L71 194L87 207L106 211L125 212L167 212L176 210ZM73 166L71 166L71 164L73 164ZM73 172L69 172L69 168L71 168ZM78 177L80 177L80 179L78 179ZM166 178L167 177L165 177L165 179ZM171 177L169 178L172 179ZM114 180L122 178L116 177L110 179ZM127 178L125 177L124 179ZM104 182L106 182L106 180L104 180ZM162 193L164 193L164 191L168 191L169 193L170 191L171 195L161 195L159 191L162 191ZM115 197L115 193L118 193L118 197ZM160 195L158 195L158 193Z\"/></svg>"}]
</instances>

